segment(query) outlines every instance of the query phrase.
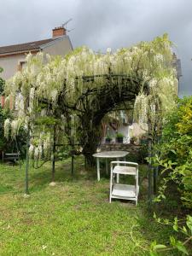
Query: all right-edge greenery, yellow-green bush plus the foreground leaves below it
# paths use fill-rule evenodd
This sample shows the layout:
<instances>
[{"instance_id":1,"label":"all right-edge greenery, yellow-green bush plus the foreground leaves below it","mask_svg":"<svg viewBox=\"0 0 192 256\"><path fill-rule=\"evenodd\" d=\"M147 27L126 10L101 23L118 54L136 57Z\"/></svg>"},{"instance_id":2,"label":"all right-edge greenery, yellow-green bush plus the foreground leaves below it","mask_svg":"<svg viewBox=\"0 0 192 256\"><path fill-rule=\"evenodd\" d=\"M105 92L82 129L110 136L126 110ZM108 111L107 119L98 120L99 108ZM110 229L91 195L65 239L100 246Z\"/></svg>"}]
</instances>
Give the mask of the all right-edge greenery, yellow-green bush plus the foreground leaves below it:
<instances>
[{"instance_id":1,"label":"all right-edge greenery, yellow-green bush plus the foreground leaves below it","mask_svg":"<svg viewBox=\"0 0 192 256\"><path fill-rule=\"evenodd\" d=\"M192 96L179 100L177 109L167 116L161 142L154 149L159 154L155 154L151 160L154 166L161 168L159 194L154 201L166 200L166 191L170 191L168 188L174 183L183 207L192 209ZM192 217L187 216L185 225L177 217L172 222L157 218L155 214L154 218L160 224L171 224L172 229L183 241L178 240L176 236L170 236L169 245L166 247L159 247L154 241L151 245L151 255L170 250L189 255L186 246L192 241Z\"/></svg>"}]
</instances>

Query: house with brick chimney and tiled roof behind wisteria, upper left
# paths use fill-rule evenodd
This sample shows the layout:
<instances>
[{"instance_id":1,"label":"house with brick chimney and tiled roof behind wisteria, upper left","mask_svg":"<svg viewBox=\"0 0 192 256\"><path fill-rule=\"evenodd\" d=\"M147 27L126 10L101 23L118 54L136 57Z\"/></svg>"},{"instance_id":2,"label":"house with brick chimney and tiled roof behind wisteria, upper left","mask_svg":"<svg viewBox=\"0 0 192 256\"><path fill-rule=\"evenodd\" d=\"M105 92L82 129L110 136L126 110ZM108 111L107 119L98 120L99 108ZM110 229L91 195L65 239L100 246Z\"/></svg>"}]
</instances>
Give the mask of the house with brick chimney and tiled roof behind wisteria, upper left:
<instances>
[{"instance_id":1,"label":"house with brick chimney and tiled roof behind wisteria, upper left","mask_svg":"<svg viewBox=\"0 0 192 256\"><path fill-rule=\"evenodd\" d=\"M16 71L21 70L25 65L25 58L28 53L33 55L39 51L49 55L66 55L73 50L70 38L67 36L64 26L55 27L52 31L52 38L15 44L0 47L0 67L3 67L1 77L11 78Z\"/></svg>"}]
</instances>

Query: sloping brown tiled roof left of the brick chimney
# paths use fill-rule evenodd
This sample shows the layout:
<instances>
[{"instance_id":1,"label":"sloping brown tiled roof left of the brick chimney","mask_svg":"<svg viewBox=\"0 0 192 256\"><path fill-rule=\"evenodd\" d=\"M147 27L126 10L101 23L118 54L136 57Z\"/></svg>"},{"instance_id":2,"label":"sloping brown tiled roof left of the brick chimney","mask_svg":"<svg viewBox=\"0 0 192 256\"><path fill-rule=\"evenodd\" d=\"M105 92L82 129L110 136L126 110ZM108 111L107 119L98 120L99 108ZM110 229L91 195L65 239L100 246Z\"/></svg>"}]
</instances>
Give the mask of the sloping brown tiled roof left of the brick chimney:
<instances>
[{"instance_id":1,"label":"sloping brown tiled roof left of the brick chimney","mask_svg":"<svg viewBox=\"0 0 192 256\"><path fill-rule=\"evenodd\" d=\"M30 50L39 50L41 45L48 44L49 42L55 41L56 38L49 38L40 41L29 42L25 44L14 44L9 46L0 47L0 55L9 55L18 52L25 52Z\"/></svg>"}]
</instances>

